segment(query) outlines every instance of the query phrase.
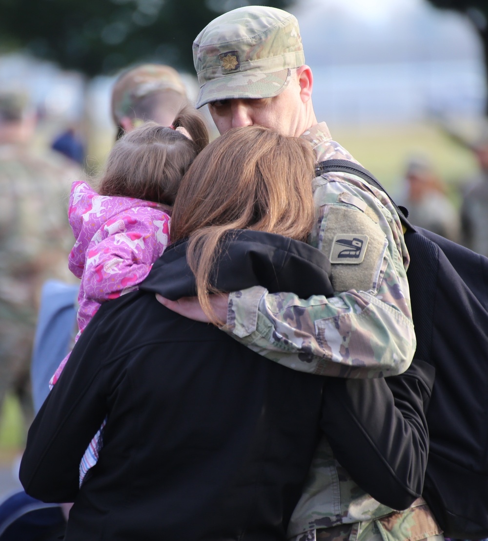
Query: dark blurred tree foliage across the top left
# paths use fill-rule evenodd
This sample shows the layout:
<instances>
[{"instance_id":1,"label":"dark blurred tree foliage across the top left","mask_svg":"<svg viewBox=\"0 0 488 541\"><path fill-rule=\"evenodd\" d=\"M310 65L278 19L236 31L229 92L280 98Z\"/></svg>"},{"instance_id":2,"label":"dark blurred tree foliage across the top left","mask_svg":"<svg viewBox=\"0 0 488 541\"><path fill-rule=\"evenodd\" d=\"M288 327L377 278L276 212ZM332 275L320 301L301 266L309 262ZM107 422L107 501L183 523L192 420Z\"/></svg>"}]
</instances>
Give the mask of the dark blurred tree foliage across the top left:
<instances>
[{"instance_id":1,"label":"dark blurred tree foliage across the top left","mask_svg":"<svg viewBox=\"0 0 488 541\"><path fill-rule=\"evenodd\" d=\"M0 50L26 50L89 77L136 62L193 71L191 44L217 15L294 0L0 0Z\"/></svg>"}]
</instances>

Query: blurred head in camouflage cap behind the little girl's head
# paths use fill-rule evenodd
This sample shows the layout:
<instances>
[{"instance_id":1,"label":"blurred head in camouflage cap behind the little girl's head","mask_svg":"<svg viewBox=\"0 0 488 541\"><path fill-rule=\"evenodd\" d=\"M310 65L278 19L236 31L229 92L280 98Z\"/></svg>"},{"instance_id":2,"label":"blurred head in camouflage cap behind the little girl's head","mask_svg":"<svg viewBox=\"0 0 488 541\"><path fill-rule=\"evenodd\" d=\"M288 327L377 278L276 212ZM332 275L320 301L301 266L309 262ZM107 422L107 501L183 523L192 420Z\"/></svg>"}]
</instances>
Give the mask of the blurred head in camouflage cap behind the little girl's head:
<instances>
[{"instance_id":1,"label":"blurred head in camouflage cap behind the little girl's head","mask_svg":"<svg viewBox=\"0 0 488 541\"><path fill-rule=\"evenodd\" d=\"M187 100L185 85L170 66L142 64L124 71L112 89L117 138L145 120L169 126Z\"/></svg>"}]
</instances>

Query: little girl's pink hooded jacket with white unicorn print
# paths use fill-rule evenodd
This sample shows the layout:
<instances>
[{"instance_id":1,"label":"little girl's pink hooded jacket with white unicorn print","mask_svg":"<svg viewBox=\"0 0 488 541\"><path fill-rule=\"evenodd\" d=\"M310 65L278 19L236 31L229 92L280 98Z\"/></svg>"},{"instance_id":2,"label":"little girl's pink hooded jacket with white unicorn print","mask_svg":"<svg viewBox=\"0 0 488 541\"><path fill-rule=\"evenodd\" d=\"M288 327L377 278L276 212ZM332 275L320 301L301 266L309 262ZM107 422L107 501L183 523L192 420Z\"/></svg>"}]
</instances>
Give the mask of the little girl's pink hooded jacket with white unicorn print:
<instances>
[{"instance_id":1,"label":"little girl's pink hooded jacket with white unicorn print","mask_svg":"<svg viewBox=\"0 0 488 541\"><path fill-rule=\"evenodd\" d=\"M168 246L170 216L158 203L99 195L83 181L72 184L68 215L76 239L68 265L81 278L82 332L102 302L146 278Z\"/></svg>"}]
</instances>

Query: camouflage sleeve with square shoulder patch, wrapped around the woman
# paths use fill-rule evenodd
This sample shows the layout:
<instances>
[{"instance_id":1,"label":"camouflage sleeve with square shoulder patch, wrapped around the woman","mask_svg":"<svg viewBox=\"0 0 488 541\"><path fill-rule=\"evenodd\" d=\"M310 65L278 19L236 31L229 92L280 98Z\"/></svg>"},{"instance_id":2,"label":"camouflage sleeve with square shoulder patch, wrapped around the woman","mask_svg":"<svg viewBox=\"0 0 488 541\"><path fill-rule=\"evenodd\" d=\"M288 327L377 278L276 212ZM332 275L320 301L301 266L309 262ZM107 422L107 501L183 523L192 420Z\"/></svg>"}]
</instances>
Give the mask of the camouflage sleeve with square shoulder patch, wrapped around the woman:
<instances>
[{"instance_id":1,"label":"camouflage sleeve with square shoulder patch, wrapped around the woman","mask_svg":"<svg viewBox=\"0 0 488 541\"><path fill-rule=\"evenodd\" d=\"M356 378L402 373L416 339L398 215L385 194L356 177L314 183L319 215L310 243L330 256L335 296L233 292L225 330L294 370Z\"/></svg>"}]
</instances>

